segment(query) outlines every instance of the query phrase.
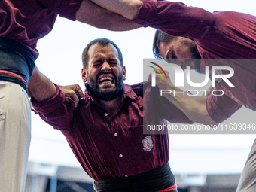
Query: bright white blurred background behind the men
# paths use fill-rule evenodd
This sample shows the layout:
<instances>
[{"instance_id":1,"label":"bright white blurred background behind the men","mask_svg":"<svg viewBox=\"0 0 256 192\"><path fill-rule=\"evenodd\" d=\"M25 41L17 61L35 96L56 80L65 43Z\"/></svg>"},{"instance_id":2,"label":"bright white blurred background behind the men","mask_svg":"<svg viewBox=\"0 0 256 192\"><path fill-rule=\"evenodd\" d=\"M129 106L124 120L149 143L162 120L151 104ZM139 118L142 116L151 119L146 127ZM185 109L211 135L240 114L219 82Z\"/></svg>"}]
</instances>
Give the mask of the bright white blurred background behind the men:
<instances>
[{"instance_id":1,"label":"bright white blurred background behind the men","mask_svg":"<svg viewBox=\"0 0 256 192\"><path fill-rule=\"evenodd\" d=\"M208 11L239 11L255 15L253 0L184 0L188 6ZM81 53L95 38L109 38L123 52L126 84L143 81L143 59L153 59L155 29L141 28L129 32L96 29L84 23L58 17L53 31L38 41L38 69L54 83L79 84ZM229 119L254 122L254 112L241 108ZM99 133L100 134L100 133ZM180 192L236 190L239 175L248 157L254 134L169 134L172 172ZM81 169L62 133L53 130L32 112L32 142L26 192L94 191L92 179Z\"/></svg>"}]
</instances>

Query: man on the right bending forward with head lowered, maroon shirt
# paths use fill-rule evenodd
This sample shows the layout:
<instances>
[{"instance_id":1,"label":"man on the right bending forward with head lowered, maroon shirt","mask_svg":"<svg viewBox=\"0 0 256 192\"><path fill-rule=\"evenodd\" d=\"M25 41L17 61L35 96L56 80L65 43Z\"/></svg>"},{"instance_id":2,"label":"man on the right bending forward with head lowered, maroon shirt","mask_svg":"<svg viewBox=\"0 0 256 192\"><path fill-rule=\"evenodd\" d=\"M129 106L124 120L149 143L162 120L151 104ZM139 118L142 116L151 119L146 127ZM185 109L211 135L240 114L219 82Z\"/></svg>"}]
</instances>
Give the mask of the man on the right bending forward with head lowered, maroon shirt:
<instances>
[{"instance_id":1,"label":"man on the right bending forward with head lowered, maroon shirt","mask_svg":"<svg viewBox=\"0 0 256 192\"><path fill-rule=\"evenodd\" d=\"M242 105L256 110L256 17L233 11L210 13L202 8L187 7L180 2L157 0L93 0L96 4L117 12L141 26L157 31L154 53L166 62L172 59L201 59L200 63L181 62L182 69L190 66L206 73L206 66L230 66L234 75L229 78L234 87L218 81L214 90L222 90L223 96L210 94L193 97L182 94L164 94L191 120L198 123L221 123ZM134 6L136 5L136 6ZM141 5L140 7L138 5ZM126 11L126 8L129 11ZM133 7L133 11L131 10ZM139 8L138 8L139 7ZM169 34L169 35L165 35ZM212 62L212 59L215 59ZM188 61L188 60L187 60ZM216 61L217 64L215 63ZM221 70L221 73L226 73ZM160 80L160 78L159 78ZM180 92L171 83L157 81L163 90ZM256 141L251 148L237 191L256 191Z\"/></svg>"}]
</instances>

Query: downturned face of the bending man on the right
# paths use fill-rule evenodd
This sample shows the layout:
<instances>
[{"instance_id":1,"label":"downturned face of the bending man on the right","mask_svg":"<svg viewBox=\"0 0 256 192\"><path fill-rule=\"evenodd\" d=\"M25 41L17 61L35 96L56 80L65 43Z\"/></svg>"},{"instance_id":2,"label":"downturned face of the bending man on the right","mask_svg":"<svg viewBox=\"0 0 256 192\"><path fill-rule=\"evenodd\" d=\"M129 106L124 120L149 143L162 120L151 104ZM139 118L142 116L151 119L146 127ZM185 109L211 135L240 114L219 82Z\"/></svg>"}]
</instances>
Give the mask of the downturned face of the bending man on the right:
<instances>
[{"instance_id":1,"label":"downturned face of the bending man on the right","mask_svg":"<svg viewBox=\"0 0 256 192\"><path fill-rule=\"evenodd\" d=\"M186 66L200 72L200 54L197 52L194 41L190 38L177 37L173 41L159 42L158 50L162 58L169 63L174 63L174 59L182 59L183 62L175 63L184 70Z\"/></svg>"}]
</instances>

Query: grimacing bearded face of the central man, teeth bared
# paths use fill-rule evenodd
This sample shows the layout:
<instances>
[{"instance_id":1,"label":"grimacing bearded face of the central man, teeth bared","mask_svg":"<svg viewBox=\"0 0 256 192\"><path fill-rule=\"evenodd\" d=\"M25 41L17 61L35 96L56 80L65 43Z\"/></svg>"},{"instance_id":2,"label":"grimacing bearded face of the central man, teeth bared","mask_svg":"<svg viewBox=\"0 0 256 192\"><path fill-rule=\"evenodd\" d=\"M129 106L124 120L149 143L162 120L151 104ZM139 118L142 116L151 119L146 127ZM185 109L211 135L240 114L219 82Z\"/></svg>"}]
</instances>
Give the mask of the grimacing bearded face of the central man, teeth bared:
<instances>
[{"instance_id":1,"label":"grimacing bearded face of the central man, teeth bared","mask_svg":"<svg viewBox=\"0 0 256 192\"><path fill-rule=\"evenodd\" d=\"M88 68L82 69L90 94L104 101L120 96L125 80L125 66L120 66L117 49L112 45L93 44L88 50Z\"/></svg>"}]
</instances>

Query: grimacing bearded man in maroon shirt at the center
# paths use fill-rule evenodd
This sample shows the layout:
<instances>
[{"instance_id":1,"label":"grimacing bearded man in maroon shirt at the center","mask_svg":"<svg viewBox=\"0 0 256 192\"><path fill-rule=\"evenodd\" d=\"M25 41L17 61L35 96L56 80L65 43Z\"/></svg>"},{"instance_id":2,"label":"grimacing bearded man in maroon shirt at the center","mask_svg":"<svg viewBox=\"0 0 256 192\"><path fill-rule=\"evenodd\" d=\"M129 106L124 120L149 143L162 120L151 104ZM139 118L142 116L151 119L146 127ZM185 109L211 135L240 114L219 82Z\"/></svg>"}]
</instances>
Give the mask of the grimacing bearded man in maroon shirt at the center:
<instances>
[{"instance_id":1,"label":"grimacing bearded man in maroon shirt at the center","mask_svg":"<svg viewBox=\"0 0 256 192\"><path fill-rule=\"evenodd\" d=\"M87 89L78 107L35 69L29 79L35 110L66 136L96 191L176 191L166 130L144 134L143 126L191 121L151 82L123 84L126 69L112 41L92 41L82 57ZM149 109L153 98L159 110Z\"/></svg>"}]
</instances>

